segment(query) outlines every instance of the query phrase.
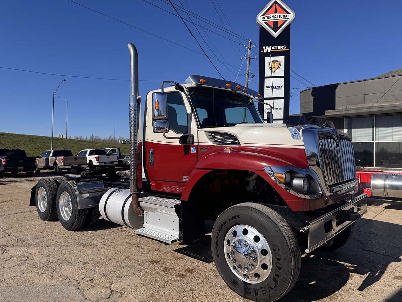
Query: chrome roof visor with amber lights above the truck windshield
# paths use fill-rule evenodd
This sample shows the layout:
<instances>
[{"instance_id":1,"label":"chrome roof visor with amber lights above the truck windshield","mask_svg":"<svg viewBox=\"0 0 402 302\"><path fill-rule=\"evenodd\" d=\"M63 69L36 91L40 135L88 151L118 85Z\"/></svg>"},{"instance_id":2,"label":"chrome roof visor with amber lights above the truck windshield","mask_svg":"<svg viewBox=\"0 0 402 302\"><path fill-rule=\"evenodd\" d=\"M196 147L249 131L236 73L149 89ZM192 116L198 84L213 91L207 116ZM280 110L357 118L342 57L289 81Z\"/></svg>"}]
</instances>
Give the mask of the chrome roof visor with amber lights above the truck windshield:
<instances>
[{"instance_id":1,"label":"chrome roof visor with amber lights above the truck windshield","mask_svg":"<svg viewBox=\"0 0 402 302\"><path fill-rule=\"evenodd\" d=\"M198 76L197 74L193 74L187 78L186 83L187 84L198 84L198 85L203 85L203 86L212 86L212 87L224 88L224 89L233 90L233 91L239 91L239 92L245 93L247 95L250 95L255 99L263 100L263 97L259 97L258 96L259 93L256 92L255 90L252 90L246 86L240 85L240 84L232 82L232 81L208 78L206 76Z\"/></svg>"}]
</instances>

